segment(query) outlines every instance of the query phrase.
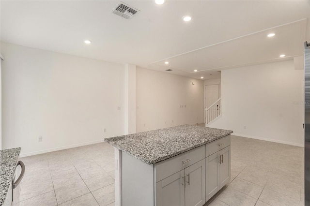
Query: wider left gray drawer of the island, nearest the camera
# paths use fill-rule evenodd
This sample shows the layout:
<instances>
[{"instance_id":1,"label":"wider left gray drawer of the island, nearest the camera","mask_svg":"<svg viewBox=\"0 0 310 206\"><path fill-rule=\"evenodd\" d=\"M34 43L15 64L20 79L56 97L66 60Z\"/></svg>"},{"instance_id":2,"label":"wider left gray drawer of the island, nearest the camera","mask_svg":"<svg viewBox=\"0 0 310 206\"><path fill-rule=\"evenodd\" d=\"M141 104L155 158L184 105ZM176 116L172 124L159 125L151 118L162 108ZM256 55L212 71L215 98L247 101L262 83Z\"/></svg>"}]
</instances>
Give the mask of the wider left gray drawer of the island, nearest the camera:
<instances>
[{"instance_id":1,"label":"wider left gray drawer of the island, nearest the camera","mask_svg":"<svg viewBox=\"0 0 310 206\"><path fill-rule=\"evenodd\" d=\"M204 159L204 145L155 163L156 182ZM187 162L186 162L187 161ZM185 163L183 163L185 162Z\"/></svg>"}]
</instances>

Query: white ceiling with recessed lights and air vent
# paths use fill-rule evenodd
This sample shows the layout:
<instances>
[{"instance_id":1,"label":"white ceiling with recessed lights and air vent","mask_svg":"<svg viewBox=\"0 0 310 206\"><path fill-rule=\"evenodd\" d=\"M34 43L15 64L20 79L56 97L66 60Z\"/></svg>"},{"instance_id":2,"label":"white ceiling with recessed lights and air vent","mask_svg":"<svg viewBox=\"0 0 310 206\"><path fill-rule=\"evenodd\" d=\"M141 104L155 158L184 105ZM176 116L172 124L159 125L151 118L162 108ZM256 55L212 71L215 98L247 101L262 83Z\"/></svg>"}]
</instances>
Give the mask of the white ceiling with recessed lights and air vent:
<instances>
[{"instance_id":1,"label":"white ceiling with recessed lights and air vent","mask_svg":"<svg viewBox=\"0 0 310 206\"><path fill-rule=\"evenodd\" d=\"M129 20L112 13L119 2L1 1L1 41L204 79L293 59L310 41L310 1L124 1L140 10ZM184 22L184 15L193 18Z\"/></svg>"}]
</instances>

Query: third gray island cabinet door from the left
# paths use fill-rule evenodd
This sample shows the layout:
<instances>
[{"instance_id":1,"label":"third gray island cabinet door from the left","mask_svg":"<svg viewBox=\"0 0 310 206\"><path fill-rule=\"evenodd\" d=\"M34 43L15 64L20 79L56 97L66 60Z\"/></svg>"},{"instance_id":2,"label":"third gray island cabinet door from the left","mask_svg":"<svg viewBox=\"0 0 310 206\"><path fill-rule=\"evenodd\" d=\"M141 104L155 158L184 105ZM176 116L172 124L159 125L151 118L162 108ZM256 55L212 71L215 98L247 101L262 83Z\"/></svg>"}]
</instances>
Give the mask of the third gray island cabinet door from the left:
<instances>
[{"instance_id":1,"label":"third gray island cabinet door from the left","mask_svg":"<svg viewBox=\"0 0 310 206\"><path fill-rule=\"evenodd\" d=\"M208 201L220 190L220 154L219 151L205 158L205 201Z\"/></svg>"}]
</instances>

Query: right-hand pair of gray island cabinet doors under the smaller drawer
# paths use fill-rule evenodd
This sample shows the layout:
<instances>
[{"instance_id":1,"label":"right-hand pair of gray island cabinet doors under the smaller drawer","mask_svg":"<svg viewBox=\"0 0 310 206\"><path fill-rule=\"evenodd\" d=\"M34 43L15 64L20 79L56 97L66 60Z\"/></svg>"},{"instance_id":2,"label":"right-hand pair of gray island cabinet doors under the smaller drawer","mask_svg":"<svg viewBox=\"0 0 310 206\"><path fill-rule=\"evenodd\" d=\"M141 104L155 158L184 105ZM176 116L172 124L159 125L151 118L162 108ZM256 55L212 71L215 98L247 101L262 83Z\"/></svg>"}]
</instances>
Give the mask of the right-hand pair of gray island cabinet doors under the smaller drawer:
<instances>
[{"instance_id":1,"label":"right-hand pair of gray island cabinet doors under the smaller drawer","mask_svg":"<svg viewBox=\"0 0 310 206\"><path fill-rule=\"evenodd\" d=\"M205 158L205 199L208 201L231 178L230 146Z\"/></svg>"}]
</instances>

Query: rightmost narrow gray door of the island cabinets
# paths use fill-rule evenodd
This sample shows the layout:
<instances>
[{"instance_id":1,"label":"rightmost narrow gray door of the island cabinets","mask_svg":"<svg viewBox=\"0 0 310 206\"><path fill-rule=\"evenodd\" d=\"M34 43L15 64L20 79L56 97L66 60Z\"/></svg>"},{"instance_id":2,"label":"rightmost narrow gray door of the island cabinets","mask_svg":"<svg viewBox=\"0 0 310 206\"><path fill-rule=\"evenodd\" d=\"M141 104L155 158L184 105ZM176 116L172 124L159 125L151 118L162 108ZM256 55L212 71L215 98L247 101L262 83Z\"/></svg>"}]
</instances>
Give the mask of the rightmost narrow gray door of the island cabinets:
<instances>
[{"instance_id":1,"label":"rightmost narrow gray door of the island cabinets","mask_svg":"<svg viewBox=\"0 0 310 206\"><path fill-rule=\"evenodd\" d=\"M220 163L221 188L231 179L231 146L225 147L221 151L222 162Z\"/></svg>"}]
</instances>

